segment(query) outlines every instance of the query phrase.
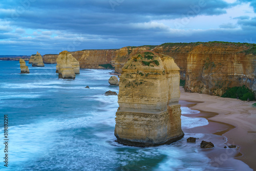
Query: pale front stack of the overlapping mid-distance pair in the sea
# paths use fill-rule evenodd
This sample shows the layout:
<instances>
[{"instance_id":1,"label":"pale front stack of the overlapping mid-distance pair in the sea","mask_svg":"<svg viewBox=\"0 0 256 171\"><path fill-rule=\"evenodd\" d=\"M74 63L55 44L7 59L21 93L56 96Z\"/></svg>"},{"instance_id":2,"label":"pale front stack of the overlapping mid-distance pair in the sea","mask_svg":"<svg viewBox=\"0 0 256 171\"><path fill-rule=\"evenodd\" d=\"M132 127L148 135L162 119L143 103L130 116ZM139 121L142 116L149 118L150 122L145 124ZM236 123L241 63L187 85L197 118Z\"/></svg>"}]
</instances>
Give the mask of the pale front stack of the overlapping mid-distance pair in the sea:
<instances>
[{"instance_id":1,"label":"pale front stack of the overlapping mid-distance pair in the sea","mask_svg":"<svg viewBox=\"0 0 256 171\"><path fill-rule=\"evenodd\" d=\"M59 78L74 79L76 77L72 67L72 55L68 51L62 51L57 58L56 72L59 73Z\"/></svg>"}]
</instances>

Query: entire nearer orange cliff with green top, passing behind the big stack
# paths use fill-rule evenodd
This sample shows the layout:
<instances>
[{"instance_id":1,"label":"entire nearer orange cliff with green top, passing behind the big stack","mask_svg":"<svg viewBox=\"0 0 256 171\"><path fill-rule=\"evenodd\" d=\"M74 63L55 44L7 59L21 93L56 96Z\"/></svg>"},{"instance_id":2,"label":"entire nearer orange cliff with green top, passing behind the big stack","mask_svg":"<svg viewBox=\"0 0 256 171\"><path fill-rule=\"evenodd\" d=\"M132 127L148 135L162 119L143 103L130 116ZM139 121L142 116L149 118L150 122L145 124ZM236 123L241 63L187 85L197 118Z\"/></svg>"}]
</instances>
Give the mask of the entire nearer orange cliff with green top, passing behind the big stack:
<instances>
[{"instance_id":1,"label":"entire nearer orange cliff with green top, passing behind the big stack","mask_svg":"<svg viewBox=\"0 0 256 171\"><path fill-rule=\"evenodd\" d=\"M222 95L229 87L256 91L256 45L231 42L166 43L146 49L174 58L189 92ZM115 57L115 71L142 47L124 47ZM134 52L134 53L132 53Z\"/></svg>"}]
</instances>

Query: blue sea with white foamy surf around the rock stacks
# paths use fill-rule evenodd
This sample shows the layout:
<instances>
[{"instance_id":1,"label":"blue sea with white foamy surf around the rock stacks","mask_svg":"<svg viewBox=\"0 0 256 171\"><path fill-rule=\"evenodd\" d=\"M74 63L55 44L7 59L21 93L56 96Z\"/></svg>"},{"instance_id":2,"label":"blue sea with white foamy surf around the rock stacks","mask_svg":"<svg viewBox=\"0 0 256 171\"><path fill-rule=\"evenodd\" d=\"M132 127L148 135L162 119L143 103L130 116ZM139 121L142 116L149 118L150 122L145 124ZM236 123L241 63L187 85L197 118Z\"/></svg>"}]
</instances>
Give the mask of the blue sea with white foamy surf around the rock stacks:
<instances>
[{"instance_id":1,"label":"blue sea with white foamy surf around the rock stacks","mask_svg":"<svg viewBox=\"0 0 256 171\"><path fill-rule=\"evenodd\" d=\"M111 70L82 69L73 80L58 79L56 65L29 66L0 61L1 170L213 170L200 146L186 138L157 147L115 142L117 96ZM85 89L89 86L90 89ZM182 107L183 114L199 111ZM4 115L8 115L8 167L4 166ZM182 127L207 125L204 118L182 116ZM222 168L214 168L222 170Z\"/></svg>"}]
</instances>

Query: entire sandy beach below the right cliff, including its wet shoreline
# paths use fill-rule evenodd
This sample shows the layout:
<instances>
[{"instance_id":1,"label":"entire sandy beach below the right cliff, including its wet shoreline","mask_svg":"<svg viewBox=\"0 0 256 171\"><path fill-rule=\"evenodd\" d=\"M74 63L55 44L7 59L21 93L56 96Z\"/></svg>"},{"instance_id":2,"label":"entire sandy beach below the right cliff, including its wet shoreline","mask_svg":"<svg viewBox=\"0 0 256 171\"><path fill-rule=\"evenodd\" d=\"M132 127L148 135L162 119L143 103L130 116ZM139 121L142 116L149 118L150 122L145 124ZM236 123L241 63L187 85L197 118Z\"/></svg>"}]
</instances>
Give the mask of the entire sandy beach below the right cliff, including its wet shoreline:
<instances>
[{"instance_id":1,"label":"entire sandy beach below the right cliff, including its wet shoreline","mask_svg":"<svg viewBox=\"0 0 256 171\"><path fill-rule=\"evenodd\" d=\"M208 125L183 131L185 134L208 135L197 143L200 145L202 140L206 140L215 144L215 148L203 150L210 158L210 164L216 169L235 167L236 170L256 170L256 109L251 106L255 101L186 93L183 88L180 91L180 104L200 111L199 114L183 116L208 119ZM224 148L230 144L238 147Z\"/></svg>"}]
</instances>

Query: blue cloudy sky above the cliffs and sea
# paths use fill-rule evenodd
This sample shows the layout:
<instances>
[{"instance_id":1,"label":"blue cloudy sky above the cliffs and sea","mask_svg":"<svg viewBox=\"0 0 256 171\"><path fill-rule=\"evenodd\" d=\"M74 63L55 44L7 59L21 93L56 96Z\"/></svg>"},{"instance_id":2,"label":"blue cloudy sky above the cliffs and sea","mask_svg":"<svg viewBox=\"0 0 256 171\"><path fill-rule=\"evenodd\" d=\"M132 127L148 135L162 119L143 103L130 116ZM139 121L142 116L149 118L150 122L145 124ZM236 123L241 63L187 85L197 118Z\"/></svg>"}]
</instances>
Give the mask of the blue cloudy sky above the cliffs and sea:
<instances>
[{"instance_id":1,"label":"blue cloudy sky above the cliffs and sea","mask_svg":"<svg viewBox=\"0 0 256 171\"><path fill-rule=\"evenodd\" d=\"M8 0L0 55L165 42L256 43L256 0Z\"/></svg>"}]
</instances>

